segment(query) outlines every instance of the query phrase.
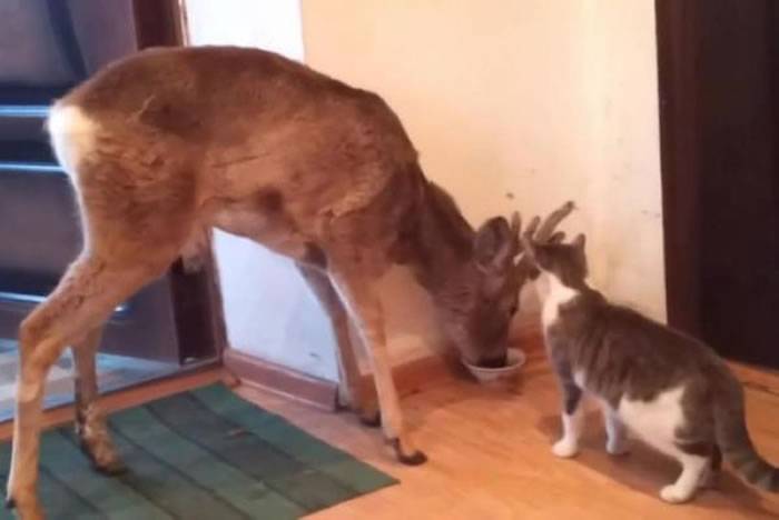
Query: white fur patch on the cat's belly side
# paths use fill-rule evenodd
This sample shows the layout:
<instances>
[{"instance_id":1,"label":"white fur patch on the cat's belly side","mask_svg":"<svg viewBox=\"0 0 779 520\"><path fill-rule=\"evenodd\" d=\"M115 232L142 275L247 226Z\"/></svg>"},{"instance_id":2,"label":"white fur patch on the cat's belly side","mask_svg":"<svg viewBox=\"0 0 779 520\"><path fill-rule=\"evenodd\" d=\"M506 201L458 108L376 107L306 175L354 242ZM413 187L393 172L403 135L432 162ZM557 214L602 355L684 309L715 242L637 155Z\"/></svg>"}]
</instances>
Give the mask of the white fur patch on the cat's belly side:
<instances>
[{"instance_id":1,"label":"white fur patch on the cat's belly side","mask_svg":"<svg viewBox=\"0 0 779 520\"><path fill-rule=\"evenodd\" d=\"M652 401L622 398L617 409L620 420L644 442L665 454L678 457L676 431L684 422L681 398L684 387L660 393Z\"/></svg>"}]
</instances>

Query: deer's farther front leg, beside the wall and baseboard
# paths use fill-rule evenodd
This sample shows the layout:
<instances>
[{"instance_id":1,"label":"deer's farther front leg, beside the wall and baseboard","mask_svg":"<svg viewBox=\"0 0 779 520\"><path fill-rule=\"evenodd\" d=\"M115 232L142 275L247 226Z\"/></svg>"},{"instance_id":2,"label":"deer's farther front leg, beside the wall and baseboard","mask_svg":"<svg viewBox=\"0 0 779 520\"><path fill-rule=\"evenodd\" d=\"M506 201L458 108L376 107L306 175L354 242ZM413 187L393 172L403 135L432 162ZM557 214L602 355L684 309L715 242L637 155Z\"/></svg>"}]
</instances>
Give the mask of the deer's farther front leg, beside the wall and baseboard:
<instances>
[{"instance_id":1,"label":"deer's farther front leg, beside the wall and baseboard","mask_svg":"<svg viewBox=\"0 0 779 520\"><path fill-rule=\"evenodd\" d=\"M322 266L324 267L324 266ZM359 413L361 420L366 423L377 424L377 403L366 394L362 384L362 374L355 344L349 336L348 316L344 304L338 298L329 277L321 267L313 267L304 262L297 262L297 268L303 279L308 283L317 300L327 312L335 332L338 347L338 402Z\"/></svg>"}]
</instances>

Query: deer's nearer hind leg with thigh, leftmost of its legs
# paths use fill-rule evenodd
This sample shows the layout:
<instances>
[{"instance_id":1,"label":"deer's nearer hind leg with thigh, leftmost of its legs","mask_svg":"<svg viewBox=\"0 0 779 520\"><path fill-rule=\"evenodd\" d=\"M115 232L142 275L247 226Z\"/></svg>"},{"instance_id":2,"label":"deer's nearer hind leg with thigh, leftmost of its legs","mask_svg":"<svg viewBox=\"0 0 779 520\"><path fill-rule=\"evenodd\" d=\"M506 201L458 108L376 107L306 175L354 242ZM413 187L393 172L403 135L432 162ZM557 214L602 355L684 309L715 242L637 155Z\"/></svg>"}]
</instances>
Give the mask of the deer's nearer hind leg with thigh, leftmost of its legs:
<instances>
[{"instance_id":1,"label":"deer's nearer hind leg with thigh, leftmost of its legs","mask_svg":"<svg viewBox=\"0 0 779 520\"><path fill-rule=\"evenodd\" d=\"M118 268L102 259L82 256L68 269L49 298L22 322L7 503L16 506L24 520L43 518L36 486L41 401L49 369L66 344L83 341L117 304L162 270L164 267L152 269L149 263L140 268Z\"/></svg>"}]
</instances>

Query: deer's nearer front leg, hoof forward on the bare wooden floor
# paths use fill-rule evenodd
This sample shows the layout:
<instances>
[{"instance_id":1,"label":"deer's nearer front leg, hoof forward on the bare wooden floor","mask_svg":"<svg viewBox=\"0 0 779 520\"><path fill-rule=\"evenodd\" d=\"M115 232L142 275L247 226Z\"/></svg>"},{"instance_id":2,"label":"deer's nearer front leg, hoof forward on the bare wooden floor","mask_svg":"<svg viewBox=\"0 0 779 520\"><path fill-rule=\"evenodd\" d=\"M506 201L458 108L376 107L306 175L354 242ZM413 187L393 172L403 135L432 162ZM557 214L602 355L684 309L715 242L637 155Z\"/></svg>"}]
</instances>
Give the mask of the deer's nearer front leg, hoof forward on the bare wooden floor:
<instances>
[{"instance_id":1,"label":"deer's nearer front leg, hoof forward on the bare wooden floor","mask_svg":"<svg viewBox=\"0 0 779 520\"><path fill-rule=\"evenodd\" d=\"M378 393L384 436L392 443L401 462L410 466L422 464L427 458L414 447L403 421L397 390L392 378L381 300L369 279L365 277L334 270L333 280L367 347Z\"/></svg>"}]
</instances>

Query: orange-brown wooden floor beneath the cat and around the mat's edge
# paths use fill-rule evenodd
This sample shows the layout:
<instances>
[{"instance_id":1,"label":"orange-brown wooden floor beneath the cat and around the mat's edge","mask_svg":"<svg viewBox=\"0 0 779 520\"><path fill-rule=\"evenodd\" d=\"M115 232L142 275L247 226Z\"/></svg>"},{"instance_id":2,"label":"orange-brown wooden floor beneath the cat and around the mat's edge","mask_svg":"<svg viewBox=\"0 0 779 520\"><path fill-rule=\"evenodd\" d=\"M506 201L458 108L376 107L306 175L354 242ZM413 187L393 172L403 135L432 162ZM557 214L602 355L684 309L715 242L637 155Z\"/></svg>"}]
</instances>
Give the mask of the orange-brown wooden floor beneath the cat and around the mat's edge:
<instances>
[{"instance_id":1,"label":"orange-brown wooden floor beneath the cat and around the mat's edge","mask_svg":"<svg viewBox=\"0 0 779 520\"><path fill-rule=\"evenodd\" d=\"M779 393L766 388L773 383L779 390L779 379L770 378L756 383L762 390L748 390L749 426L760 451L779 464ZM558 390L541 354L531 356L523 381L513 389L450 380L406 398L406 418L430 457L417 468L394 462L379 431L348 413L314 410L247 387L238 392L401 480L310 520L779 517L779 496L752 491L730 472L718 490L702 491L690 504L663 503L657 494L676 479L676 464L635 444L628 456L608 456L594 409L582 453L573 460L553 457Z\"/></svg>"}]
</instances>

